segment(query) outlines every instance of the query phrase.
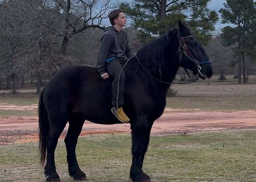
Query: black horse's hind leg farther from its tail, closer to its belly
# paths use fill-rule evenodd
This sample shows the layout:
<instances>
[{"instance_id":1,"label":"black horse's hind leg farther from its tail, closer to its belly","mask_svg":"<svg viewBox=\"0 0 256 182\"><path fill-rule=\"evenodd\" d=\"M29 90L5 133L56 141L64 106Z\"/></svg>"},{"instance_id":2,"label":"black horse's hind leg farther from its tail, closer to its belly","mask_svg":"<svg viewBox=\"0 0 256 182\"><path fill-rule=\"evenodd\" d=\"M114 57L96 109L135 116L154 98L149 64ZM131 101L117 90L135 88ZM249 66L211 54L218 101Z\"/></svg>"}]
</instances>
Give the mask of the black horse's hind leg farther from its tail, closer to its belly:
<instances>
[{"instance_id":1,"label":"black horse's hind leg farther from its tail, closer to its belly","mask_svg":"<svg viewBox=\"0 0 256 182\"><path fill-rule=\"evenodd\" d=\"M79 134L81 133L84 124L84 118L78 113L72 113L69 119L69 128L67 136L65 137L65 144L67 148L67 162L68 170L71 177L75 180L81 181L86 179L86 175L81 169L76 160L76 144Z\"/></svg>"}]
</instances>

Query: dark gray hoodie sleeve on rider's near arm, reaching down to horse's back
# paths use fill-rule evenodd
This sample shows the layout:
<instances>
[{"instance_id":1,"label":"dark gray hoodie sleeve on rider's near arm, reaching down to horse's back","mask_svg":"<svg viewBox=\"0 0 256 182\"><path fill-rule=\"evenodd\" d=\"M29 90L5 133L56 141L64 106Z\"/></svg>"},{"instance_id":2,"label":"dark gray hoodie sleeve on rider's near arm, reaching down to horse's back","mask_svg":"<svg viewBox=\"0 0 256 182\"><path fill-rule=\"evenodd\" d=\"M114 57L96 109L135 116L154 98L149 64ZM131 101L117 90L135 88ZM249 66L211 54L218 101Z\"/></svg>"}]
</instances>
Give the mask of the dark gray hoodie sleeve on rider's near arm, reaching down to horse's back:
<instances>
[{"instance_id":1,"label":"dark gray hoodie sleeve on rider's near arm, reaching down to horse's back","mask_svg":"<svg viewBox=\"0 0 256 182\"><path fill-rule=\"evenodd\" d=\"M103 75L104 73L107 72L106 58L107 58L110 46L112 44L112 41L113 41L112 35L105 34L102 36L102 40L101 40L101 44L98 52L98 58L97 58L97 68L100 75Z\"/></svg>"}]
</instances>

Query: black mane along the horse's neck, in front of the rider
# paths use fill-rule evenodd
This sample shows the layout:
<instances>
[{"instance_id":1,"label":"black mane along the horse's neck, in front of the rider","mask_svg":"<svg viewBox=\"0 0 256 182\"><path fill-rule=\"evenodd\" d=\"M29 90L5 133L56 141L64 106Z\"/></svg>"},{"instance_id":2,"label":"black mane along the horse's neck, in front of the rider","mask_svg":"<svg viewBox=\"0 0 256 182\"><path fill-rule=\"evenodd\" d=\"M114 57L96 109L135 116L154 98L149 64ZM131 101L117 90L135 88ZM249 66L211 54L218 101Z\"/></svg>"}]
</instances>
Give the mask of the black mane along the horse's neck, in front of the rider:
<instances>
[{"instance_id":1,"label":"black mane along the horse's neck, in front of the rider","mask_svg":"<svg viewBox=\"0 0 256 182\"><path fill-rule=\"evenodd\" d=\"M160 38L151 41L147 45L138 50L137 57L141 64L152 74L159 71L160 65L164 65L166 55L170 50L170 42L173 42L170 37L173 37L177 29L171 29L168 33L162 35ZM170 41L170 42L169 42ZM138 67L135 69L137 70Z\"/></svg>"}]
</instances>

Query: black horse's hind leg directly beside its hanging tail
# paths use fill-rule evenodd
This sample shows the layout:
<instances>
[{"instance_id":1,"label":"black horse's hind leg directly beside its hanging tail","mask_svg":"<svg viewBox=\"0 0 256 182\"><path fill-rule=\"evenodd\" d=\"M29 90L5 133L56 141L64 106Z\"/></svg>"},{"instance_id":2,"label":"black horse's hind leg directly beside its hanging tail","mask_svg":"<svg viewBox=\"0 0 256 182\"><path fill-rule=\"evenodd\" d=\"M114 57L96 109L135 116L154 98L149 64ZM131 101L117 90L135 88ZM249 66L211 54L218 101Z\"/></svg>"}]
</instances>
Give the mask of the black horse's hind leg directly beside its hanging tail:
<instances>
[{"instance_id":1,"label":"black horse's hind leg directly beside its hanging tail","mask_svg":"<svg viewBox=\"0 0 256 182\"><path fill-rule=\"evenodd\" d=\"M62 118L62 119L61 119ZM44 167L44 174L47 177L47 182L59 182L60 177L56 172L54 152L58 143L58 138L64 127L67 124L67 118L64 117L49 117L50 130L47 137L47 163Z\"/></svg>"}]
</instances>

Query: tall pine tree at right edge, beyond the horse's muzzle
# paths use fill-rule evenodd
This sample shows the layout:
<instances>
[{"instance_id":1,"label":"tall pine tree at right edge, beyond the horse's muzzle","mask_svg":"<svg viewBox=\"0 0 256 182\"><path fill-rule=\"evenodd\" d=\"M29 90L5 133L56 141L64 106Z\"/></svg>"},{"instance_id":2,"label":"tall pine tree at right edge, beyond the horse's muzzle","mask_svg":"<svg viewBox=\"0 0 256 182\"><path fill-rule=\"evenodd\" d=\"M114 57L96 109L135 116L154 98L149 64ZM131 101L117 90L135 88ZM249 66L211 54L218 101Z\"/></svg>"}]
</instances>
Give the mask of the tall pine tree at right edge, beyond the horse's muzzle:
<instances>
[{"instance_id":1,"label":"tall pine tree at right edge, beyond the horse's muzzle","mask_svg":"<svg viewBox=\"0 0 256 182\"><path fill-rule=\"evenodd\" d=\"M238 56L238 83L246 83L245 55L253 55L253 41L255 38L256 3L253 0L227 0L224 8L220 9L221 23L230 23L222 29L222 37L226 45L237 44L234 53ZM255 49L254 49L255 50Z\"/></svg>"}]
</instances>

